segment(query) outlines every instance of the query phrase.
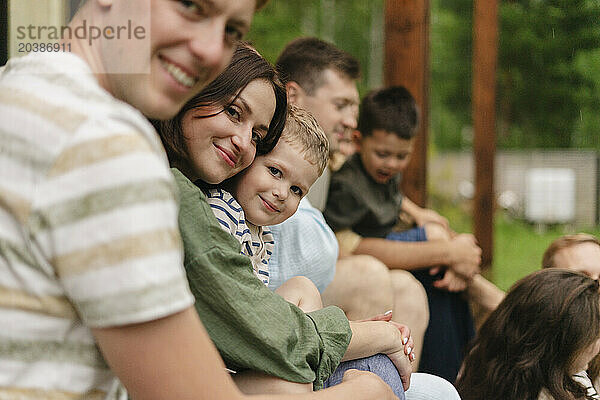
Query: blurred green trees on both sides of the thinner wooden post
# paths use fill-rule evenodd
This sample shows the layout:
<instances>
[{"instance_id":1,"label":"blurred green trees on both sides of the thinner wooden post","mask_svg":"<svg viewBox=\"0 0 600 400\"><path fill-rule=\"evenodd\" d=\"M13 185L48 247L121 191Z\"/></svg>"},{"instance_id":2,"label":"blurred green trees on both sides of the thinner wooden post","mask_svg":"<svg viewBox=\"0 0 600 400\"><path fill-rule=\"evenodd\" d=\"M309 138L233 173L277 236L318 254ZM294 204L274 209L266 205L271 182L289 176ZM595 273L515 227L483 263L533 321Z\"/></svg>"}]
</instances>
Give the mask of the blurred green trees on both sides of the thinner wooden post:
<instances>
[{"instance_id":1,"label":"blurred green trees on both sides of the thinner wooden post","mask_svg":"<svg viewBox=\"0 0 600 400\"><path fill-rule=\"evenodd\" d=\"M432 7L433 136L461 148L471 124L472 0ZM499 147L600 148L598 49L598 0L502 2Z\"/></svg>"}]
</instances>

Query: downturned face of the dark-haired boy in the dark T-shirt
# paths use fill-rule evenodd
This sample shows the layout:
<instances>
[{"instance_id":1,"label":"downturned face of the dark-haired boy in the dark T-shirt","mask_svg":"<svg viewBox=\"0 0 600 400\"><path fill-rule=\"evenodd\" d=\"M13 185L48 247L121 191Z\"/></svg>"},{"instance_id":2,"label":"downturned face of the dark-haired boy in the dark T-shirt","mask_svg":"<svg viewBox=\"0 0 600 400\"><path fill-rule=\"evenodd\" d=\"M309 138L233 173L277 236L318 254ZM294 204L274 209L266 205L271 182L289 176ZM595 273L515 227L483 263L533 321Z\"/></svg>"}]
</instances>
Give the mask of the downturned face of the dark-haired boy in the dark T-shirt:
<instances>
[{"instance_id":1,"label":"downturned face of the dark-haired boy in the dark T-shirt","mask_svg":"<svg viewBox=\"0 0 600 400\"><path fill-rule=\"evenodd\" d=\"M402 139L395 133L376 129L370 136L357 138L360 159L369 176L387 183L402 172L413 151L414 139Z\"/></svg>"}]
</instances>

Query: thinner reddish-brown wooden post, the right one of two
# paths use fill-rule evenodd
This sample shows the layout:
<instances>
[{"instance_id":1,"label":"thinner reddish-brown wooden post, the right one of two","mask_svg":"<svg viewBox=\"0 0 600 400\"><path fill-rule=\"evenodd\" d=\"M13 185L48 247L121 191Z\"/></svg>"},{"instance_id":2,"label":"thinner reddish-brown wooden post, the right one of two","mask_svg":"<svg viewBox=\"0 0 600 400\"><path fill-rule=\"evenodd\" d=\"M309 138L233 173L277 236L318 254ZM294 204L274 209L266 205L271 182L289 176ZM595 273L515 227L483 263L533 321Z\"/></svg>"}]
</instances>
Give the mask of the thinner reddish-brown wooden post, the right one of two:
<instances>
[{"instance_id":1,"label":"thinner reddish-brown wooden post, the right one of two","mask_svg":"<svg viewBox=\"0 0 600 400\"><path fill-rule=\"evenodd\" d=\"M481 246L485 268L492 264L494 243L498 0L475 0L473 21L473 232Z\"/></svg>"}]
</instances>

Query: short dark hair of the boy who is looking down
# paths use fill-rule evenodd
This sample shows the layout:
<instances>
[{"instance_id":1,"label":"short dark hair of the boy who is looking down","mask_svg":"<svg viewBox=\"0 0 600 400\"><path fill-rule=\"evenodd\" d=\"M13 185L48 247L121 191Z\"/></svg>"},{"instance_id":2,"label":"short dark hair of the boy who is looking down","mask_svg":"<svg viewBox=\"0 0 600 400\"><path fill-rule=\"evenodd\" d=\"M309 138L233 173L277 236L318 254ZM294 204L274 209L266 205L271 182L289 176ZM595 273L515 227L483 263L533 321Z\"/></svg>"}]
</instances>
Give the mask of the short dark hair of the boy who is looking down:
<instances>
[{"instance_id":1,"label":"short dark hair of the boy who is looking down","mask_svg":"<svg viewBox=\"0 0 600 400\"><path fill-rule=\"evenodd\" d=\"M358 130L363 137L375 130L394 133L410 140L419 124L419 110L415 99L403 86L390 86L369 92L360 104Z\"/></svg>"}]
</instances>

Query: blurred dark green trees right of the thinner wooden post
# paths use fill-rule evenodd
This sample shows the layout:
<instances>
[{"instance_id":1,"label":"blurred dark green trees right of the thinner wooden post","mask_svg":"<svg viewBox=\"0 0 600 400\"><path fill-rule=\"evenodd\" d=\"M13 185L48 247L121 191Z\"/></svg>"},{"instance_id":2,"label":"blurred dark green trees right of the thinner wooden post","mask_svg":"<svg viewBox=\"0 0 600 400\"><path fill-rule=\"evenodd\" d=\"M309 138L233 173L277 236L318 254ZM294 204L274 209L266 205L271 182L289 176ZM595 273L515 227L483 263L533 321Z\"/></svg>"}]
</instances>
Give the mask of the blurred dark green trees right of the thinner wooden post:
<instances>
[{"instance_id":1,"label":"blurred dark green trees right of the thinner wooden post","mask_svg":"<svg viewBox=\"0 0 600 400\"><path fill-rule=\"evenodd\" d=\"M600 47L600 2L511 1L502 4L501 21L500 143L570 147L580 112L593 101L593 79L576 60Z\"/></svg>"}]
</instances>

